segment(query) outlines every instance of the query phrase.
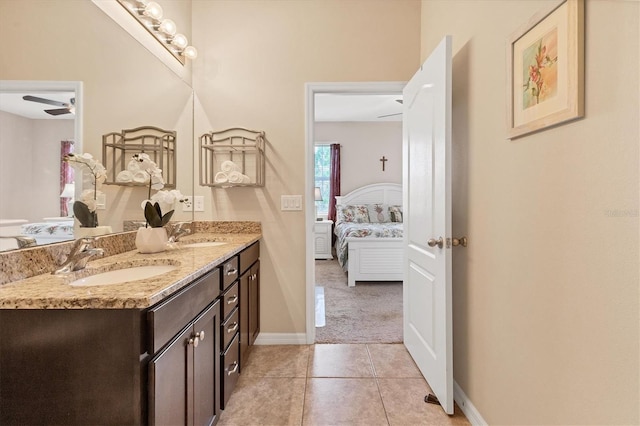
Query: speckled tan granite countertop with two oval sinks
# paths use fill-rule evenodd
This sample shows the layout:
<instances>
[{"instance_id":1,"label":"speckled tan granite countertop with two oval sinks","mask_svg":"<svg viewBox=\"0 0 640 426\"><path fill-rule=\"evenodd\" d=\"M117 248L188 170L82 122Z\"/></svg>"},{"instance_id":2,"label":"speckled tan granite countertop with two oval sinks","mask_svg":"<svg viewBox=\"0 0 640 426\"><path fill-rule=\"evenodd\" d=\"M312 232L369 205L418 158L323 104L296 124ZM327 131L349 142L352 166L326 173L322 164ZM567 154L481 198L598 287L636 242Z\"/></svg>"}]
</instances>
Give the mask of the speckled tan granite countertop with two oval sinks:
<instances>
[{"instance_id":1,"label":"speckled tan granite countertop with two oval sinks","mask_svg":"<svg viewBox=\"0 0 640 426\"><path fill-rule=\"evenodd\" d=\"M0 286L0 309L144 309L194 279L213 270L261 238L259 233L197 233L161 253L137 250L96 258L68 275L42 274ZM224 241L214 247L184 247L203 241ZM126 283L73 287L69 283L89 275L145 265L175 265L163 275Z\"/></svg>"}]
</instances>

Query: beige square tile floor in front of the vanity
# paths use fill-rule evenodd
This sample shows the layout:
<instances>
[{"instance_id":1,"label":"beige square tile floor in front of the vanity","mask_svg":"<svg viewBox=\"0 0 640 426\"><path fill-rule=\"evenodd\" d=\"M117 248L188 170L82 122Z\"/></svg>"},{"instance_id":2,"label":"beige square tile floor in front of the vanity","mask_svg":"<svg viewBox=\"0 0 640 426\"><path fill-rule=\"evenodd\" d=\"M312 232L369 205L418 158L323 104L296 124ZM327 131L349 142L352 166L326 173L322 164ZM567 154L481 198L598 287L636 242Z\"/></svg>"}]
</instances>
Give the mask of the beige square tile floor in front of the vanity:
<instances>
[{"instance_id":1,"label":"beige square tile floor in front of the vanity","mask_svg":"<svg viewBox=\"0 0 640 426\"><path fill-rule=\"evenodd\" d=\"M256 346L218 425L468 425L400 344Z\"/></svg>"}]
</instances>

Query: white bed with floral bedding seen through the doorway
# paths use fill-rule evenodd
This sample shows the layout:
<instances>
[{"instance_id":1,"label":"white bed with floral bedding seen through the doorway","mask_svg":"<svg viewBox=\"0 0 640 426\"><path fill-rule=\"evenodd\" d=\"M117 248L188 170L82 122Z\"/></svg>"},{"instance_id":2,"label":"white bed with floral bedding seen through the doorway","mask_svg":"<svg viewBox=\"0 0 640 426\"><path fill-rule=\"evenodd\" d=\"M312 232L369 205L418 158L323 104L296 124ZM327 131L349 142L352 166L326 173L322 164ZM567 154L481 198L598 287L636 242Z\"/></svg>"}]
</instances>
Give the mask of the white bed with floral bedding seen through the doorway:
<instances>
[{"instance_id":1,"label":"white bed with floral bedding seen through the doorway","mask_svg":"<svg viewBox=\"0 0 640 426\"><path fill-rule=\"evenodd\" d=\"M336 197L336 254L356 281L402 281L402 185L366 185Z\"/></svg>"}]
</instances>

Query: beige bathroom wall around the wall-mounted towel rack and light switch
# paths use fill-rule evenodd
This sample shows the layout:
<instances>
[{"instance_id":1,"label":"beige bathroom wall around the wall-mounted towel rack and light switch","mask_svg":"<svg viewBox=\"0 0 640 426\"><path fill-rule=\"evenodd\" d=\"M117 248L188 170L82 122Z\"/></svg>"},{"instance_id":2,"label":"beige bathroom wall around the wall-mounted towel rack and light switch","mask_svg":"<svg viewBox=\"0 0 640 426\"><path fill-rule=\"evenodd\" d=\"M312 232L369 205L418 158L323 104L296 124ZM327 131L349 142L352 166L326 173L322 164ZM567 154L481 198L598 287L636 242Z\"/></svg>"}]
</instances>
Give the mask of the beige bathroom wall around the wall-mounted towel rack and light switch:
<instances>
[{"instance_id":1,"label":"beige bathroom wall around the wall-mounted towel rack and light switch","mask_svg":"<svg viewBox=\"0 0 640 426\"><path fill-rule=\"evenodd\" d=\"M305 332L305 83L398 81L419 64L415 1L193 1L195 134L264 130L264 188L208 189L196 219L259 220L262 333ZM206 118L205 118L206 116Z\"/></svg>"}]
</instances>

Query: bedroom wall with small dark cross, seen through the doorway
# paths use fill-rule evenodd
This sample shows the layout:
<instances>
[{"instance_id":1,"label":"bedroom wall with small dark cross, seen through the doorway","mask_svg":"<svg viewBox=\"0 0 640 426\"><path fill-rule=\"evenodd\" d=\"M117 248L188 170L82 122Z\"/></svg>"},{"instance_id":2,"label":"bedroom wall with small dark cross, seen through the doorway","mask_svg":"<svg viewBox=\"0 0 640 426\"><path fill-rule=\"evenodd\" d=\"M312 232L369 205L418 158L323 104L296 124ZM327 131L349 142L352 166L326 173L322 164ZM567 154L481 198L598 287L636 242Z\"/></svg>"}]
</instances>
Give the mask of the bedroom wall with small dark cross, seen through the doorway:
<instances>
[{"instance_id":1,"label":"bedroom wall with small dark cross, seen through the doorway","mask_svg":"<svg viewBox=\"0 0 640 426\"><path fill-rule=\"evenodd\" d=\"M343 195L372 183L402 183L402 121L316 122L314 131L316 143L340 144Z\"/></svg>"}]
</instances>

